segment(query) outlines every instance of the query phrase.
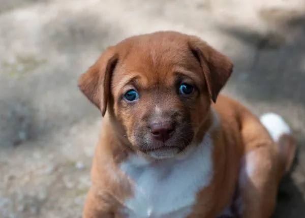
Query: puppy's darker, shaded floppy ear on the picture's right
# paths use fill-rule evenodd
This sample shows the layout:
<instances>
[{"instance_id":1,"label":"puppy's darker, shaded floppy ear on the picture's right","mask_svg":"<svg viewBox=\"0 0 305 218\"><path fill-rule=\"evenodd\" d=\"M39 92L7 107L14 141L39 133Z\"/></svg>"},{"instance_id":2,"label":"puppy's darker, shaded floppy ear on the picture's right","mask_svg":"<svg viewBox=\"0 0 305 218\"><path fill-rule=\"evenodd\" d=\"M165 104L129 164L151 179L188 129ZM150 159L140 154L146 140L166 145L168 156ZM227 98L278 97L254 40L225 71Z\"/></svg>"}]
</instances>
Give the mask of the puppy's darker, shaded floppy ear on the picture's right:
<instances>
[{"instance_id":1,"label":"puppy's darker, shaded floppy ear on the picture's right","mask_svg":"<svg viewBox=\"0 0 305 218\"><path fill-rule=\"evenodd\" d=\"M197 37L190 37L189 46L200 62L210 98L215 103L231 76L233 64L227 56Z\"/></svg>"}]
</instances>

